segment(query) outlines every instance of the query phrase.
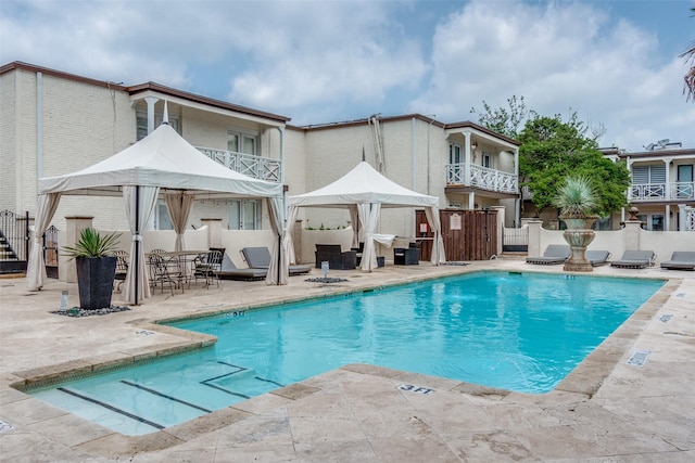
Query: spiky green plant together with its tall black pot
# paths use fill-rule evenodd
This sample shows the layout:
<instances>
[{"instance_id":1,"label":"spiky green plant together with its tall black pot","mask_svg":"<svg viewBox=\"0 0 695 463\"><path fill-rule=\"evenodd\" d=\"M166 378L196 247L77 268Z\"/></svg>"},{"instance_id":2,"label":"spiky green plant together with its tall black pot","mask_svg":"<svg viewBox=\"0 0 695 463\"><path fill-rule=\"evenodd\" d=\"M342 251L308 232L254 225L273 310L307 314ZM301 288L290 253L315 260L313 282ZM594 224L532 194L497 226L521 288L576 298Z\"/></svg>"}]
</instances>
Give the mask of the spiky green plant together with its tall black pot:
<instances>
[{"instance_id":1,"label":"spiky green plant together with its tall black pot","mask_svg":"<svg viewBox=\"0 0 695 463\"><path fill-rule=\"evenodd\" d=\"M75 259L79 307L86 310L111 306L113 281L116 275L116 258L121 233L101 234L92 228L81 231L74 246L63 247L63 255Z\"/></svg>"}]
</instances>

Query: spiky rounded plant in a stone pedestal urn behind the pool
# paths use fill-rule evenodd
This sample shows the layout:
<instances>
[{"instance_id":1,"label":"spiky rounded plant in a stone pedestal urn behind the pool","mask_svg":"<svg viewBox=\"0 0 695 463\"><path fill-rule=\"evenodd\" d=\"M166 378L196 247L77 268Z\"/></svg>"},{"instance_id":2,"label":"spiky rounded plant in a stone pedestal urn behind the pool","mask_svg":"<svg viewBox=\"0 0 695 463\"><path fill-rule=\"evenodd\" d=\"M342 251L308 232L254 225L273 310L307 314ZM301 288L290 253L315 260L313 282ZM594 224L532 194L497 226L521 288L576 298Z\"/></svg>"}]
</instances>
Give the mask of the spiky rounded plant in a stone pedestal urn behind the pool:
<instances>
[{"instance_id":1,"label":"spiky rounded plant in a stone pedestal urn behind the pool","mask_svg":"<svg viewBox=\"0 0 695 463\"><path fill-rule=\"evenodd\" d=\"M571 249L564 270L593 271L585 256L586 246L595 237L591 227L598 219L594 214L598 197L591 180L582 176L568 176L555 196L554 205L560 210L559 218L567 226L563 237Z\"/></svg>"}]
</instances>

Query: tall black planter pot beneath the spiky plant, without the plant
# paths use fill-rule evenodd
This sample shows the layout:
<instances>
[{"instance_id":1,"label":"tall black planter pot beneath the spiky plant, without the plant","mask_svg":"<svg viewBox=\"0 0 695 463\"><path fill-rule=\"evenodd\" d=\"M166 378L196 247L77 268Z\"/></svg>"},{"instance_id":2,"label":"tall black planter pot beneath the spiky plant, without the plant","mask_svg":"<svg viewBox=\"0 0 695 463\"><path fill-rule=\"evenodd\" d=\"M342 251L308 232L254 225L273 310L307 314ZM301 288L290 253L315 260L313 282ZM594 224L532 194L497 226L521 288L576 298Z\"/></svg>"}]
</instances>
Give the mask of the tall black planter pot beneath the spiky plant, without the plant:
<instances>
[{"instance_id":1,"label":"tall black planter pot beneath the spiky plant, without the plant","mask_svg":"<svg viewBox=\"0 0 695 463\"><path fill-rule=\"evenodd\" d=\"M96 310L111 307L113 281L116 276L115 257L77 257L77 287L79 307Z\"/></svg>"}]
</instances>

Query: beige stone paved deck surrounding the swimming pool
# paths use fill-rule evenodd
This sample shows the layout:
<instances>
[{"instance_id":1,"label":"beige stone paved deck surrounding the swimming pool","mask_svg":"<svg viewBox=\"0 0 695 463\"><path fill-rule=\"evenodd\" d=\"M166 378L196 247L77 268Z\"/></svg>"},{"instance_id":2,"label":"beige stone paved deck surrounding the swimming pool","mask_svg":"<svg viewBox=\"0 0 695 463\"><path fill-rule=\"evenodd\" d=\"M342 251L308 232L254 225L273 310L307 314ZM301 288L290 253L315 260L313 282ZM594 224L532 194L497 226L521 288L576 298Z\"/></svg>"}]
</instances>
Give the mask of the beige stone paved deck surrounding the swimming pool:
<instances>
[{"instance_id":1,"label":"beige stone paved deck surrounding the swimming pool","mask_svg":"<svg viewBox=\"0 0 695 463\"><path fill-rule=\"evenodd\" d=\"M527 395L346 365L164 430L128 437L11 385L91 371L213 342L154 322L247 309L473 270L561 272L496 259L468 266L331 271L344 283L224 281L168 292L131 310L49 313L76 284L0 279L0 461L12 462L693 462L695 272L598 267L593 274L669 279L553 391ZM320 276L314 270L312 276ZM119 295L114 294L118 305ZM670 317L666 317L670 316ZM407 349L407 346L404 347ZM649 351L643 365L628 364ZM421 394L412 385L433 389Z\"/></svg>"}]
</instances>

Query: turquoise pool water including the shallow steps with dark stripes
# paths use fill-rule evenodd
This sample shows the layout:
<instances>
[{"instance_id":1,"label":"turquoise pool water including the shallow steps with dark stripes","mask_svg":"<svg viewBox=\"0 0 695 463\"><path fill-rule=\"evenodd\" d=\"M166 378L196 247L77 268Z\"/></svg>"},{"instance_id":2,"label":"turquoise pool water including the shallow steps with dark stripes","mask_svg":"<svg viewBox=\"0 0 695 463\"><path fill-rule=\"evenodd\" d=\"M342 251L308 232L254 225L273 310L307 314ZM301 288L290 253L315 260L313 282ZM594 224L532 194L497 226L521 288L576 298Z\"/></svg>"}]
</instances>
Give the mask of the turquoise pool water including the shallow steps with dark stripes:
<instances>
[{"instance_id":1,"label":"turquoise pool water including the shallow steps with dark stripes","mask_svg":"<svg viewBox=\"0 0 695 463\"><path fill-rule=\"evenodd\" d=\"M552 390L662 281L471 273L170 323L215 346L29 394L127 435L348 363Z\"/></svg>"}]
</instances>

